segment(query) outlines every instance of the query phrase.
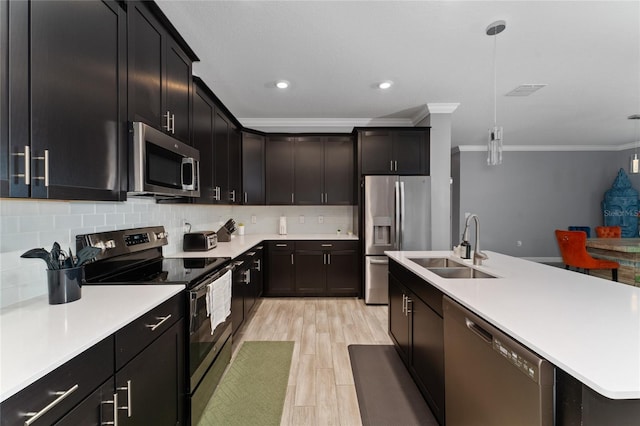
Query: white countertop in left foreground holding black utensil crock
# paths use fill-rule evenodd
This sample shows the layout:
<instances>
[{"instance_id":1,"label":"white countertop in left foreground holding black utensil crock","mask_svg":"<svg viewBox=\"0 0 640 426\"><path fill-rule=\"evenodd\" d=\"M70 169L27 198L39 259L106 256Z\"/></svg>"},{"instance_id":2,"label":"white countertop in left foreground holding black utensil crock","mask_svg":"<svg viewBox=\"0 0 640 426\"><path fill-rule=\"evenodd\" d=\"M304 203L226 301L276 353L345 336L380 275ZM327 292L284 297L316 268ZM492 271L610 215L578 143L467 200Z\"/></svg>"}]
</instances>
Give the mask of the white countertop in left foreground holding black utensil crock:
<instances>
[{"instance_id":1,"label":"white countertop in left foreground holding black utensil crock","mask_svg":"<svg viewBox=\"0 0 640 426\"><path fill-rule=\"evenodd\" d=\"M182 285L90 285L74 302L50 305L45 295L2 309L0 401L183 290Z\"/></svg>"}]
</instances>

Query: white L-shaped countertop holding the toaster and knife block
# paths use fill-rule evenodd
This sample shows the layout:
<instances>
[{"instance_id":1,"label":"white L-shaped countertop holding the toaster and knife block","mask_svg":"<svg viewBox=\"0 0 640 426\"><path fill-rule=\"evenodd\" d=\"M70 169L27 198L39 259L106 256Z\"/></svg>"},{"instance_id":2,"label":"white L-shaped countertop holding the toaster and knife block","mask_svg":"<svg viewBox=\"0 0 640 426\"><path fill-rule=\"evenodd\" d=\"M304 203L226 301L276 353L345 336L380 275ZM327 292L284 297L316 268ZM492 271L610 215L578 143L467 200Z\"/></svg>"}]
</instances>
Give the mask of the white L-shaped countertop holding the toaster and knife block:
<instances>
[{"instance_id":1,"label":"white L-shaped countertop holding the toaster and knife block","mask_svg":"<svg viewBox=\"0 0 640 426\"><path fill-rule=\"evenodd\" d=\"M218 242L218 246L207 251L181 251L168 254L166 257L238 257L251 247L263 241L272 240L343 240L358 241L355 235L346 234L249 234L232 235L231 241L227 243Z\"/></svg>"}]
</instances>

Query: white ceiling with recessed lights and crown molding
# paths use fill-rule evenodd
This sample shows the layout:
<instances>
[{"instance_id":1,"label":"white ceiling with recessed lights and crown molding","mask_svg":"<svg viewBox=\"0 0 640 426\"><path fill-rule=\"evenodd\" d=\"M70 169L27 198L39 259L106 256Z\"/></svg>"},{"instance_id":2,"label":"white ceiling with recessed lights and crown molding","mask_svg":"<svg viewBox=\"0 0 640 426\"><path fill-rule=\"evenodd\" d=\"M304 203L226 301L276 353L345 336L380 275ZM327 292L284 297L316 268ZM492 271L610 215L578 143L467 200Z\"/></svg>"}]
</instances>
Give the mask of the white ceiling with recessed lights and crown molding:
<instances>
[{"instance_id":1,"label":"white ceiling with recessed lights and crown molding","mask_svg":"<svg viewBox=\"0 0 640 426\"><path fill-rule=\"evenodd\" d=\"M350 131L413 125L459 103L452 145L633 147L640 113L640 1L167 1L200 76L243 125ZM291 82L286 91L278 79ZM388 91L375 85L395 84ZM506 97L521 84L547 86ZM380 120L382 119L382 120ZM635 120L639 121L639 120Z\"/></svg>"}]
</instances>

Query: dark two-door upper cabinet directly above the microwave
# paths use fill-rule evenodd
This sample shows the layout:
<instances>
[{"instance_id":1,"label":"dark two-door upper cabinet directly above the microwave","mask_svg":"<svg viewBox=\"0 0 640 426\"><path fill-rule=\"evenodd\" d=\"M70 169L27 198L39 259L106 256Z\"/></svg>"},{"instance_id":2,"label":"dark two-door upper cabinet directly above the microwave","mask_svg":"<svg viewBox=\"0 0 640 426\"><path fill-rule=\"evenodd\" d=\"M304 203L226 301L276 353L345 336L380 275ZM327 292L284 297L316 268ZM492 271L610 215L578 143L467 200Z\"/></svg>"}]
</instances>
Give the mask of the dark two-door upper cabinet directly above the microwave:
<instances>
[{"instance_id":1,"label":"dark two-door upper cabinet directly above the microwave","mask_svg":"<svg viewBox=\"0 0 640 426\"><path fill-rule=\"evenodd\" d=\"M153 2L128 3L129 120L190 143L193 53Z\"/></svg>"}]
</instances>

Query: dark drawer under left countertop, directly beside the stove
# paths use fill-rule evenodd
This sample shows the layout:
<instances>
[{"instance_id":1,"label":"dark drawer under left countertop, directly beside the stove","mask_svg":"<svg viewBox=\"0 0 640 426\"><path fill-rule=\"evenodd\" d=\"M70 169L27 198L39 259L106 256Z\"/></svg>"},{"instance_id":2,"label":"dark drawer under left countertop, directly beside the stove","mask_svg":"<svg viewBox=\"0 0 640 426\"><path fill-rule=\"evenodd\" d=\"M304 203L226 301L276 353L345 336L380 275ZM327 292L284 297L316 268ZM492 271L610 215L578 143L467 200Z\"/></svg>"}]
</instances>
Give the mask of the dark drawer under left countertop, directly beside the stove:
<instances>
[{"instance_id":1,"label":"dark drawer under left countertop, directly beside the stove","mask_svg":"<svg viewBox=\"0 0 640 426\"><path fill-rule=\"evenodd\" d=\"M184 316L184 294L175 295L116 332L116 370Z\"/></svg>"}]
</instances>

